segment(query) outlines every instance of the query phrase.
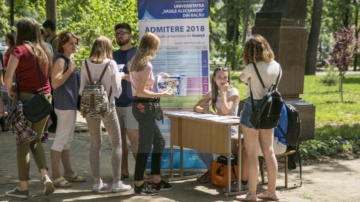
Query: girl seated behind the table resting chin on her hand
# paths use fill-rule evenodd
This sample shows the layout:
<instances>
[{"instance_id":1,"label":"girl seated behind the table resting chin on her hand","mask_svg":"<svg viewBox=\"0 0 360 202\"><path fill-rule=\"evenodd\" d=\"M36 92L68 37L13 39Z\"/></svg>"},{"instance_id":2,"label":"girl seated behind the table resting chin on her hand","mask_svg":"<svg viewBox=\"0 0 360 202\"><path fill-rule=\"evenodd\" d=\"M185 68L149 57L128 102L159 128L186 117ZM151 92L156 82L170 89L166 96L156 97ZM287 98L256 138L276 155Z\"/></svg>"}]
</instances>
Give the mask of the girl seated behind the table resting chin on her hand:
<instances>
[{"instance_id":1,"label":"girl seated behind the table resting chin on her hand","mask_svg":"<svg viewBox=\"0 0 360 202\"><path fill-rule=\"evenodd\" d=\"M230 86L230 72L225 66L216 66L211 80L211 90L206 93L193 108L194 112L214 114L203 108L211 100L211 109L218 115L236 116L239 93L236 88ZM238 127L231 127L231 135L238 135ZM195 151L197 156L206 165L207 172L196 180L201 183L209 183L211 180L211 167L213 162L212 153Z\"/></svg>"}]
</instances>

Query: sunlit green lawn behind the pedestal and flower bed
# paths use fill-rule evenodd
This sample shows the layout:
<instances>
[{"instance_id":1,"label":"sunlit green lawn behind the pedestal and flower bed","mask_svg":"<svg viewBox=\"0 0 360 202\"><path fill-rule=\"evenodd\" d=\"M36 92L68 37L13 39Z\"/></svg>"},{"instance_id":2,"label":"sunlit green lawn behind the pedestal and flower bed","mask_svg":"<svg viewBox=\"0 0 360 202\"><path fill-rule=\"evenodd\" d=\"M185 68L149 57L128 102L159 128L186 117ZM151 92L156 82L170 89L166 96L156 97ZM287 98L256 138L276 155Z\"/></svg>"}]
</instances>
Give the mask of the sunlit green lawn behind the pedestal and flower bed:
<instances>
[{"instance_id":1,"label":"sunlit green lawn behind the pedestal and flower bed","mask_svg":"<svg viewBox=\"0 0 360 202\"><path fill-rule=\"evenodd\" d=\"M338 85L327 86L320 79L321 76L305 76L303 94L299 95L316 107L315 139L360 134L360 76L345 76L342 103ZM246 97L246 86L239 81L239 73L231 74L231 85L238 89L241 100Z\"/></svg>"}]
</instances>

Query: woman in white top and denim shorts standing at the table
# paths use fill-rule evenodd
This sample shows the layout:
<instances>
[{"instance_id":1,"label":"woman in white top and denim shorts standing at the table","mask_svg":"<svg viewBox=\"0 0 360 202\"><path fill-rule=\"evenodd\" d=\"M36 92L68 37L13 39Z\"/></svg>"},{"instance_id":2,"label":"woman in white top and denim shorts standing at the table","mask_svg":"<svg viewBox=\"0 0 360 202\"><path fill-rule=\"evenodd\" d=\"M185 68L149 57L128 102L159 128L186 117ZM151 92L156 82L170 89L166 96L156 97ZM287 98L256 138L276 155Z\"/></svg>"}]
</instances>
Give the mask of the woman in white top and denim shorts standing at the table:
<instances>
[{"instance_id":1,"label":"woman in white top and denim shorts standing at the table","mask_svg":"<svg viewBox=\"0 0 360 202\"><path fill-rule=\"evenodd\" d=\"M258 199L277 201L279 200L275 192L277 161L272 148L274 129L258 129L250 123L250 116L252 114L250 87L253 94L254 107L256 108L265 93L256 75L253 63L258 69L266 89L269 89L271 84L276 82L280 65L274 60L273 52L266 39L258 34L252 35L246 41L243 63L246 67L240 74L240 80L248 83L248 85L246 93L247 99L240 114L240 123L247 152L248 193L247 195L237 196L235 200L256 201L257 197ZM256 184L259 169L259 143L266 161L268 183L267 191L256 196Z\"/></svg>"}]
</instances>

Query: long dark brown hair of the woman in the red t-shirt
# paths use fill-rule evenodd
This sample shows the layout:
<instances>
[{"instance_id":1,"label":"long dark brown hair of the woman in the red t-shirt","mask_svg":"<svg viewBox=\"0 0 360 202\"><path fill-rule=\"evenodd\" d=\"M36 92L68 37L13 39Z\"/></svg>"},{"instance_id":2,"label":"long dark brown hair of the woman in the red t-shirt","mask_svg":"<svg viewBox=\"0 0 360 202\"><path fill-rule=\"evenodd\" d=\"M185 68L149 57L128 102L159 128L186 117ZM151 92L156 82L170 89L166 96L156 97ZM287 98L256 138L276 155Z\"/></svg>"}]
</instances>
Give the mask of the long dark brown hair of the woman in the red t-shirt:
<instances>
[{"instance_id":1,"label":"long dark brown hair of the woman in the red t-shirt","mask_svg":"<svg viewBox=\"0 0 360 202\"><path fill-rule=\"evenodd\" d=\"M37 21L28 17L22 18L17 21L16 30L17 38L15 46L28 44L34 47L41 71L46 72L45 64L47 62L49 67L48 73L51 75L52 57L50 51L42 39L40 26L38 25Z\"/></svg>"}]
</instances>

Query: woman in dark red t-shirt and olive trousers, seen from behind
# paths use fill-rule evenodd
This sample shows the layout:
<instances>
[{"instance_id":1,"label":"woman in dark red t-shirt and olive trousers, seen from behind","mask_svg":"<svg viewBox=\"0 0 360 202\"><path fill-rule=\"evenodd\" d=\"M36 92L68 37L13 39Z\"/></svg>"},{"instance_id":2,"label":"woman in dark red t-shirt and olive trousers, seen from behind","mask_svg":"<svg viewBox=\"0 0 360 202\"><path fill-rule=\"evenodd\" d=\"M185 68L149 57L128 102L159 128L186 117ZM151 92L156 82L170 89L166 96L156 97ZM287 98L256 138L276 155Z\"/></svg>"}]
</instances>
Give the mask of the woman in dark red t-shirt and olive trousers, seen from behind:
<instances>
[{"instance_id":1,"label":"woman in dark red t-shirt and olive trousers, seen from behind","mask_svg":"<svg viewBox=\"0 0 360 202\"><path fill-rule=\"evenodd\" d=\"M32 18L22 18L16 23L17 39L12 49L5 75L5 87L8 96L12 99L12 106L20 100L25 103L27 100L41 92L40 79L44 96L51 103L50 84L48 82L51 73L51 54L46 48L40 33L40 27ZM35 53L35 54L34 54ZM39 63L41 78L38 76L36 59ZM12 89L12 78L16 72L19 97ZM28 198L29 180L29 149L33 159L41 173L41 180L44 184L45 195L52 194L54 188L47 174L46 158L44 149L40 143L40 137L46 123L47 117L37 123L28 121L27 125L36 132L34 140L25 139L23 142L16 142L17 173L20 187L6 192L6 196L17 198Z\"/></svg>"}]
</instances>

